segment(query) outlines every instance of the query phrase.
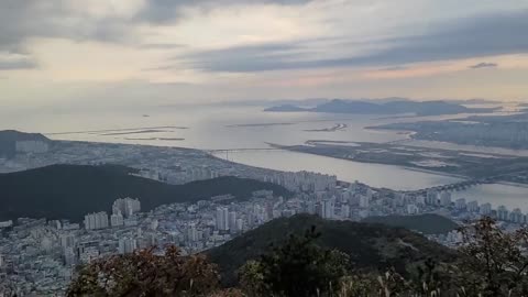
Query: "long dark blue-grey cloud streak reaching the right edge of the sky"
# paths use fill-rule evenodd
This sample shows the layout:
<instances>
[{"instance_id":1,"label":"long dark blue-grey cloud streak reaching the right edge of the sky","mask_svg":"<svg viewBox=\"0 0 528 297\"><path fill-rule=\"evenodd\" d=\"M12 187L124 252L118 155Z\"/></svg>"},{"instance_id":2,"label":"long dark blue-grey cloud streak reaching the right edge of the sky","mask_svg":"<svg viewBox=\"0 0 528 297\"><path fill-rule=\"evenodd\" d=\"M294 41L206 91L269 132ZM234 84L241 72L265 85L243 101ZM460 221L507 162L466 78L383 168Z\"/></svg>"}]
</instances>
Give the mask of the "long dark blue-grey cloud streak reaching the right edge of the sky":
<instances>
[{"instance_id":1,"label":"long dark blue-grey cloud streak reaching the right edge of the sky","mask_svg":"<svg viewBox=\"0 0 528 297\"><path fill-rule=\"evenodd\" d=\"M528 53L528 10L440 23L420 35L377 41L385 48L332 57L311 53L302 41L234 46L182 57L207 72L252 73L297 68L397 66L402 64ZM349 41L343 40L343 44ZM369 44L372 44L370 42Z\"/></svg>"}]
</instances>

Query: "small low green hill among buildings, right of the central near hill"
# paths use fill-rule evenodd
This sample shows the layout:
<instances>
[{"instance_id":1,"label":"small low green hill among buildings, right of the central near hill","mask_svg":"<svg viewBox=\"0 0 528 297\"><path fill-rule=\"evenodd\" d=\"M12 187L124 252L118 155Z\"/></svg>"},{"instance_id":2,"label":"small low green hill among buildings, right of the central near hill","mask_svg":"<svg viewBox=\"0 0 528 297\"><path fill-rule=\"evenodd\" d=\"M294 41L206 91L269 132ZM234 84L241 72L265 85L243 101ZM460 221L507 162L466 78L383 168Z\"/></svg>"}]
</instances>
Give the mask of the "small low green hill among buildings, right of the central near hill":
<instances>
[{"instance_id":1,"label":"small low green hill among buildings, right of the central near hill","mask_svg":"<svg viewBox=\"0 0 528 297\"><path fill-rule=\"evenodd\" d=\"M459 224L452 220L435 213L419 216L369 217L364 219L363 222L402 227L424 234L446 234L459 228Z\"/></svg>"}]
</instances>

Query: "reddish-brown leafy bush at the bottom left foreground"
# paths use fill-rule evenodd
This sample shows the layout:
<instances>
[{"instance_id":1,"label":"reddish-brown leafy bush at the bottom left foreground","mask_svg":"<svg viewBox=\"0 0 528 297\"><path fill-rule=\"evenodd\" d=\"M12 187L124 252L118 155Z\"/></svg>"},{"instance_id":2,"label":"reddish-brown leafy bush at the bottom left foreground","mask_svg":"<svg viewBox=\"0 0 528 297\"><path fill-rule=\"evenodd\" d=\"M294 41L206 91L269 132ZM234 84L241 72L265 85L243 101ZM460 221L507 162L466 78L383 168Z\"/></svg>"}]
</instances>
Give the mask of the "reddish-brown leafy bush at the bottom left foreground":
<instances>
[{"instance_id":1,"label":"reddish-brown leafy bush at the bottom left foreground","mask_svg":"<svg viewBox=\"0 0 528 297\"><path fill-rule=\"evenodd\" d=\"M182 256L176 246L97 260L81 268L67 296L209 296L219 287L216 266L202 255ZM226 295L229 296L229 295Z\"/></svg>"}]
</instances>

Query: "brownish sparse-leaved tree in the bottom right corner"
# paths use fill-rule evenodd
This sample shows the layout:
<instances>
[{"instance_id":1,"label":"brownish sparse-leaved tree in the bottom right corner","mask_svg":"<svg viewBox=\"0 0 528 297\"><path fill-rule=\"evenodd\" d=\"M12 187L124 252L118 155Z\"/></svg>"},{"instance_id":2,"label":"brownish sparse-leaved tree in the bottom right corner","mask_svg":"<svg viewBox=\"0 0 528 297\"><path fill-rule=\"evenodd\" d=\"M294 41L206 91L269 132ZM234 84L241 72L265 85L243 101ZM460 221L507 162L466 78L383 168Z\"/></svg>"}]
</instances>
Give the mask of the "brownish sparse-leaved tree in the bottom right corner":
<instances>
[{"instance_id":1,"label":"brownish sparse-leaved tree in the bottom right corner","mask_svg":"<svg viewBox=\"0 0 528 297\"><path fill-rule=\"evenodd\" d=\"M463 243L459 249L459 287L464 296L527 296L528 230L506 233L495 220L485 217L462 228Z\"/></svg>"}]
</instances>

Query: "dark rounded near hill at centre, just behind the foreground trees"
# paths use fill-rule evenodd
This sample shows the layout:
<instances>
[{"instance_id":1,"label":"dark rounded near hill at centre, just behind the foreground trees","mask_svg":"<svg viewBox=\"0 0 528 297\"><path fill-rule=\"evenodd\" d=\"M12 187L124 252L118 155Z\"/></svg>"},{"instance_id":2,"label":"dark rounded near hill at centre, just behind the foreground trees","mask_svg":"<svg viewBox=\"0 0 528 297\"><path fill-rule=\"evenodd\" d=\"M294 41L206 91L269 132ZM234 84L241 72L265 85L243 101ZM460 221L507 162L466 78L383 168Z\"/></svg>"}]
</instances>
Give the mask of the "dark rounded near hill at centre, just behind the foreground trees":
<instances>
[{"instance_id":1,"label":"dark rounded near hill at centre, just behind the foreground trees","mask_svg":"<svg viewBox=\"0 0 528 297\"><path fill-rule=\"evenodd\" d=\"M223 279L232 284L235 272L248 260L257 258L289 234L302 234L312 226L321 233L318 243L351 256L358 268L395 267L405 272L411 263L433 257L450 261L454 252L404 228L351 221L329 221L316 216L298 215L265 223L207 253L219 265Z\"/></svg>"}]
</instances>

